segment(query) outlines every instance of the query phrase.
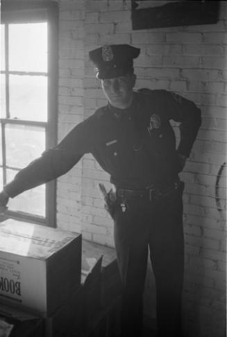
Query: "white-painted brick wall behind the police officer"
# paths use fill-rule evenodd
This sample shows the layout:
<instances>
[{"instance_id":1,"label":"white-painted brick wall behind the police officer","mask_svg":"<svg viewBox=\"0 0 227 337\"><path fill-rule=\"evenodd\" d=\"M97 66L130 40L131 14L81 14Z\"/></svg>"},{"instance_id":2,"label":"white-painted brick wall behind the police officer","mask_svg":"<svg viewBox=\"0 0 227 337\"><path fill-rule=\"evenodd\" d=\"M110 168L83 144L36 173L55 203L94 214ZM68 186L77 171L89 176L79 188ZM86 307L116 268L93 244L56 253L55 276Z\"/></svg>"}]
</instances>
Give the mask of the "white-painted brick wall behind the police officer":
<instances>
[{"instance_id":1,"label":"white-painted brick wall behind the police officer","mask_svg":"<svg viewBox=\"0 0 227 337\"><path fill-rule=\"evenodd\" d=\"M88 60L88 51L105 43L140 47L135 61L137 88L169 89L201 107L201 130L181 174L185 181L184 326L190 337L224 337L227 3L221 1L217 24L132 31L129 0L58 2L58 139L106 104ZM178 137L176 125L174 129ZM112 246L112 220L97 189L100 181L110 187L108 179L91 155L58 179L58 227ZM152 318L151 267L148 275L145 309Z\"/></svg>"}]
</instances>

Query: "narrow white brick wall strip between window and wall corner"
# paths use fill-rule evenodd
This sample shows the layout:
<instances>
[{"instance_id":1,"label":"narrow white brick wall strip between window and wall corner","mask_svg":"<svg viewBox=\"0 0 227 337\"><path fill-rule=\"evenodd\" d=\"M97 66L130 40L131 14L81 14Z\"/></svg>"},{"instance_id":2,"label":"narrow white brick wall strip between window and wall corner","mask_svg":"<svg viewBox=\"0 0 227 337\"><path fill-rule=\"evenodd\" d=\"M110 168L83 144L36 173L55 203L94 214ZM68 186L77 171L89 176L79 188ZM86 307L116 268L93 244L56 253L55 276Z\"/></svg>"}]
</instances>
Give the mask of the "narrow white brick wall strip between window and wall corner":
<instances>
[{"instance_id":1,"label":"narrow white brick wall strip between window and wall corner","mask_svg":"<svg viewBox=\"0 0 227 337\"><path fill-rule=\"evenodd\" d=\"M59 3L58 141L84 119L85 1ZM82 166L58 178L57 226L81 232Z\"/></svg>"}]
</instances>

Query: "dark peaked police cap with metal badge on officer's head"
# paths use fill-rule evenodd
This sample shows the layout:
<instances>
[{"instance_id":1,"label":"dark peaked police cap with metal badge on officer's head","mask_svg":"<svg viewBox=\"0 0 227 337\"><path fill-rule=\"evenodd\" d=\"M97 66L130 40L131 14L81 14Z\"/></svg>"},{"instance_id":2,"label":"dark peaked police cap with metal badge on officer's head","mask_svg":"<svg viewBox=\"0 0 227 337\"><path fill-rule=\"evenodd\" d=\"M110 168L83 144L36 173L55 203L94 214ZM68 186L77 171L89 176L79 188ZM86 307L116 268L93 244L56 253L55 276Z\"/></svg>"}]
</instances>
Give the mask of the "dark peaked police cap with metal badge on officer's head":
<instances>
[{"instance_id":1,"label":"dark peaked police cap with metal badge on officer's head","mask_svg":"<svg viewBox=\"0 0 227 337\"><path fill-rule=\"evenodd\" d=\"M96 77L101 80L125 75L133 69L133 59L139 54L139 48L128 44L106 44L89 52L96 66Z\"/></svg>"}]
</instances>

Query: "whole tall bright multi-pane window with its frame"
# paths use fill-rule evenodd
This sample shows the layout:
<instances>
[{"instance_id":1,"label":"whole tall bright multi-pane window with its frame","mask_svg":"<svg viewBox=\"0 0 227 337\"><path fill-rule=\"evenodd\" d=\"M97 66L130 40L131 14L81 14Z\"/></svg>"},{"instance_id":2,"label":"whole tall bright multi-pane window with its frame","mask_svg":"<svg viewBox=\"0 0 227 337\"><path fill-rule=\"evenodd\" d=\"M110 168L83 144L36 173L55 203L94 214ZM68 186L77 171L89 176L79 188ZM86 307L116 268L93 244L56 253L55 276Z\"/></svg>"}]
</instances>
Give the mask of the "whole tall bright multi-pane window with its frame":
<instances>
[{"instance_id":1,"label":"whole tall bright multi-pane window with its frame","mask_svg":"<svg viewBox=\"0 0 227 337\"><path fill-rule=\"evenodd\" d=\"M57 13L53 1L1 3L1 187L56 144ZM51 182L10 199L7 215L53 226L55 203Z\"/></svg>"}]
</instances>

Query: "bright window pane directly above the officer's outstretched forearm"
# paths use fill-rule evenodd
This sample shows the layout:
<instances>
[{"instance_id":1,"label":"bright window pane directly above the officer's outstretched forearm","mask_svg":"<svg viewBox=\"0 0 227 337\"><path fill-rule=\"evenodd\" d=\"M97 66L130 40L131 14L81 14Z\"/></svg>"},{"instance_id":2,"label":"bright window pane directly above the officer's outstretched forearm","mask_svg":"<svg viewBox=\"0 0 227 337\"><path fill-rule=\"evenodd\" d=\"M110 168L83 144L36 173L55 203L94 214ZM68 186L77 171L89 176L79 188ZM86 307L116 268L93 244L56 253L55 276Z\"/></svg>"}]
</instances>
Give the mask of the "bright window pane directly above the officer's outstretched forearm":
<instances>
[{"instance_id":1,"label":"bright window pane directly above the officer's outstretched forearm","mask_svg":"<svg viewBox=\"0 0 227 337\"><path fill-rule=\"evenodd\" d=\"M45 129L6 125L6 165L24 168L45 150Z\"/></svg>"}]
</instances>

